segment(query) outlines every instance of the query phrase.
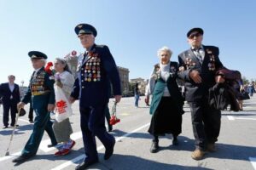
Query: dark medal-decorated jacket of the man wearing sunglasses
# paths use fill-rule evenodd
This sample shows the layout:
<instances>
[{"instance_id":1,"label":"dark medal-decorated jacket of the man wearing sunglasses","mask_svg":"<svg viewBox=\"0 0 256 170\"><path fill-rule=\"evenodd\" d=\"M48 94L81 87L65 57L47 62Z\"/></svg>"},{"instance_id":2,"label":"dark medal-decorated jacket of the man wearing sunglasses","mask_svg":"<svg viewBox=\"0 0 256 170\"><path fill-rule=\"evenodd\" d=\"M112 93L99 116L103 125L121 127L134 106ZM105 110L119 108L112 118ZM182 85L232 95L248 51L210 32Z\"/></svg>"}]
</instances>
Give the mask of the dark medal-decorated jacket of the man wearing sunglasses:
<instances>
[{"instance_id":1,"label":"dark medal-decorated jacket of the man wearing sunglasses","mask_svg":"<svg viewBox=\"0 0 256 170\"><path fill-rule=\"evenodd\" d=\"M208 96L208 89L215 84L215 72L223 65L218 59L218 48L214 46L203 46L205 57L200 63L192 49L184 51L178 55L179 66L183 66L184 71L179 71L178 77L185 81L185 98L187 101L198 101L202 97ZM199 71L202 82L195 83L189 77L190 71Z\"/></svg>"}]
</instances>

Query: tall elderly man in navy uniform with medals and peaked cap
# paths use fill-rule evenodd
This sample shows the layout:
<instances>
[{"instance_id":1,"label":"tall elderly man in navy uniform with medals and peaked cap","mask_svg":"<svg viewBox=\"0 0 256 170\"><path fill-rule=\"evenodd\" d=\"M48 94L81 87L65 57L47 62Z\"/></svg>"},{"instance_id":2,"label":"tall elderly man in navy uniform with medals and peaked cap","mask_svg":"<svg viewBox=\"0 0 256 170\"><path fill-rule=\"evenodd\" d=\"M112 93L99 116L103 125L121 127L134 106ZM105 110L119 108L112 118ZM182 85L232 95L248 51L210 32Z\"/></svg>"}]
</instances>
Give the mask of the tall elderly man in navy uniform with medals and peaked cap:
<instances>
[{"instance_id":1,"label":"tall elderly man in navy uniform with medals and peaked cap","mask_svg":"<svg viewBox=\"0 0 256 170\"><path fill-rule=\"evenodd\" d=\"M84 169L98 162L95 136L100 139L105 150L104 159L113 155L114 137L105 127L105 108L109 99L109 81L113 85L115 102L121 99L120 79L117 66L108 46L96 45L95 27L79 24L75 27L82 46L84 58L79 65L79 75L74 83L70 102L79 99L80 126L83 133L85 159L76 169Z\"/></svg>"}]
</instances>

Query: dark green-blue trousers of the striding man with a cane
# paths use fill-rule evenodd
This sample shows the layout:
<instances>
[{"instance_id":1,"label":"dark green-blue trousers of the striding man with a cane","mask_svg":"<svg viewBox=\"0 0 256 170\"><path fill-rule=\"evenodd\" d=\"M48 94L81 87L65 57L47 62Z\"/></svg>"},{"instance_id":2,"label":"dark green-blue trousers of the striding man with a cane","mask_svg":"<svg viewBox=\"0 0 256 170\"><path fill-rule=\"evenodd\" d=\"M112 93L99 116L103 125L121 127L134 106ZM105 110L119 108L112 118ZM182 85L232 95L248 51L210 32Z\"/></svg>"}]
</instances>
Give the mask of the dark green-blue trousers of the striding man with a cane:
<instances>
[{"instance_id":1,"label":"dark green-blue trousers of the striding man with a cane","mask_svg":"<svg viewBox=\"0 0 256 170\"><path fill-rule=\"evenodd\" d=\"M22 150L22 156L33 156L37 153L39 144L44 135L44 130L48 133L52 144L57 144L55 133L52 128L53 122L49 120L49 111L44 108L35 110L35 122L33 131Z\"/></svg>"}]
</instances>

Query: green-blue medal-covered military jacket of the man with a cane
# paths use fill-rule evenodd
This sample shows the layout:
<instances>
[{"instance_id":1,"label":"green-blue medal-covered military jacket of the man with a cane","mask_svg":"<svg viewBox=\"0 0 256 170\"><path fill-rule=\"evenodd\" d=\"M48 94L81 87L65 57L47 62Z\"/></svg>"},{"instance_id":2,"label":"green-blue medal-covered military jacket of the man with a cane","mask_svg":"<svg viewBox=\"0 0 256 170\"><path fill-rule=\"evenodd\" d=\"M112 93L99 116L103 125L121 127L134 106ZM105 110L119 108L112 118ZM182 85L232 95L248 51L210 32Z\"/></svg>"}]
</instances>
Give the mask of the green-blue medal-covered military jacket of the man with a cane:
<instances>
[{"instance_id":1,"label":"green-blue medal-covered military jacket of the man with a cane","mask_svg":"<svg viewBox=\"0 0 256 170\"><path fill-rule=\"evenodd\" d=\"M21 101L27 104L30 99L34 109L48 104L55 105L54 79L44 71L44 67L38 71L37 75L32 74L26 94Z\"/></svg>"}]
</instances>

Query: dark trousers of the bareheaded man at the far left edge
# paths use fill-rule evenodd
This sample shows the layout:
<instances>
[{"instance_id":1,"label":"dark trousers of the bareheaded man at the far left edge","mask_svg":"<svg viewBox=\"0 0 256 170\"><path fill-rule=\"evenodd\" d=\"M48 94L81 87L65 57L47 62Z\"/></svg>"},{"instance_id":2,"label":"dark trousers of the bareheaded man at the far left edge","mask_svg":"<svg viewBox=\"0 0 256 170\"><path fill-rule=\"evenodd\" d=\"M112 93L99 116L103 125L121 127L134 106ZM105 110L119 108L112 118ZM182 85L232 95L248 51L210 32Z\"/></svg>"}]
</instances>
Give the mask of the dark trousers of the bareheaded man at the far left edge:
<instances>
[{"instance_id":1,"label":"dark trousers of the bareheaded man at the far left edge","mask_svg":"<svg viewBox=\"0 0 256 170\"><path fill-rule=\"evenodd\" d=\"M3 125L7 127L9 125L9 111L11 115L11 126L15 126L15 118L17 110L17 102L10 99L9 101L3 102Z\"/></svg>"}]
</instances>

